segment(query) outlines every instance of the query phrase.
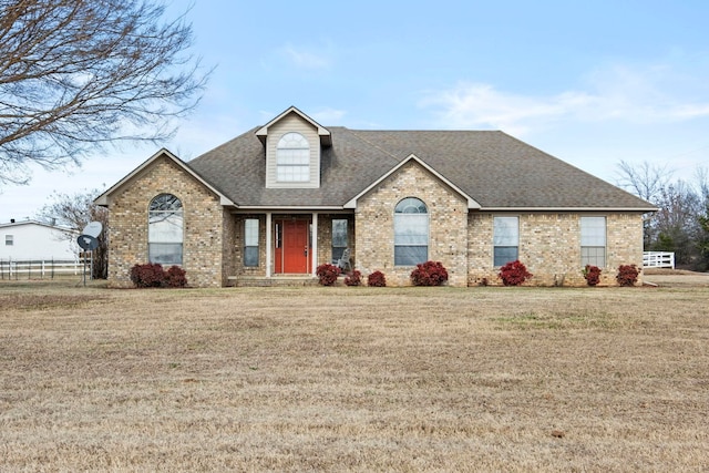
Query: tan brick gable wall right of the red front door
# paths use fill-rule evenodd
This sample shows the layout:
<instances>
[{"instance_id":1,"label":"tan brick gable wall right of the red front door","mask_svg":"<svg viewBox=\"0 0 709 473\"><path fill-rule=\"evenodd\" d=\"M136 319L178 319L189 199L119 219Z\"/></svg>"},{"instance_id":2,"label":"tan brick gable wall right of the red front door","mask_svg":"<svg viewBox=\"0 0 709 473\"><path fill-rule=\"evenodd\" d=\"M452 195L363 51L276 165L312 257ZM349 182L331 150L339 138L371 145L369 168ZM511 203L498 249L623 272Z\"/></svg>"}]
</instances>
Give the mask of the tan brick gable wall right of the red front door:
<instances>
[{"instance_id":1,"label":"tan brick gable wall right of the red front door","mask_svg":"<svg viewBox=\"0 0 709 473\"><path fill-rule=\"evenodd\" d=\"M394 207L405 197L417 197L429 212L429 259L441 261L450 286L467 284L466 202L418 163L411 162L384 179L358 202L356 268L367 276L380 270L389 286L411 285L414 267L394 266Z\"/></svg>"}]
</instances>

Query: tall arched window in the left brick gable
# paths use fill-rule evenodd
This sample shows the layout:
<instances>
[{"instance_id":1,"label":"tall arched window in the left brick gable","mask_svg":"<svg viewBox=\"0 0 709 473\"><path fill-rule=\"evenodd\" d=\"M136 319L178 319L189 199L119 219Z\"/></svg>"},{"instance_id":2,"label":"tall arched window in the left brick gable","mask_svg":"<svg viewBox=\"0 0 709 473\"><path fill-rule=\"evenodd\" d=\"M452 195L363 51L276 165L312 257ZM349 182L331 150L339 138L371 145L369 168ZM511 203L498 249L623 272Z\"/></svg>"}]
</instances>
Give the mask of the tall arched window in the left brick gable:
<instances>
[{"instance_id":1,"label":"tall arched window in the left brick gable","mask_svg":"<svg viewBox=\"0 0 709 473\"><path fill-rule=\"evenodd\" d=\"M147 212L147 243L151 263L163 266L182 265L182 202L172 194L161 194L151 200Z\"/></svg>"}]
</instances>

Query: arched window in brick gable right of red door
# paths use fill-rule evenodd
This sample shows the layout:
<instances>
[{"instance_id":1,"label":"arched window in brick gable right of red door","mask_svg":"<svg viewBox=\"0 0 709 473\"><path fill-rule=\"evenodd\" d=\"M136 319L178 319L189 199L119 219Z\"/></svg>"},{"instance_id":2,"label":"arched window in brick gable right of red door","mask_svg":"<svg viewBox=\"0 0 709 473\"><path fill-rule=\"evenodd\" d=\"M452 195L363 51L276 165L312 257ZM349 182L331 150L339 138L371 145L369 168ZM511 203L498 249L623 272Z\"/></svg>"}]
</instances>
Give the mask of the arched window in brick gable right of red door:
<instances>
[{"instance_id":1,"label":"arched window in brick gable right of red door","mask_svg":"<svg viewBox=\"0 0 709 473\"><path fill-rule=\"evenodd\" d=\"M415 266L429 259L429 212L415 197L394 208L394 266Z\"/></svg>"}]
</instances>

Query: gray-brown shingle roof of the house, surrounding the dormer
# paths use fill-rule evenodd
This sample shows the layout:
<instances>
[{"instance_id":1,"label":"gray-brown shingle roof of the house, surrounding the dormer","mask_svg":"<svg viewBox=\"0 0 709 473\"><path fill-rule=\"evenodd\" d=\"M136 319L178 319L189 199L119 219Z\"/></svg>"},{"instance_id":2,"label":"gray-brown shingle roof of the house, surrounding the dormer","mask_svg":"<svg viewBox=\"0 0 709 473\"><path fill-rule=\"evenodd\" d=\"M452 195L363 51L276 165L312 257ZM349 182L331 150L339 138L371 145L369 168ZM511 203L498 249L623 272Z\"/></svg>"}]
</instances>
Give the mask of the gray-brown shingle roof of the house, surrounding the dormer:
<instances>
[{"instance_id":1,"label":"gray-brown shingle roof of the house, surrounding the dormer","mask_svg":"<svg viewBox=\"0 0 709 473\"><path fill-rule=\"evenodd\" d=\"M345 205L414 154L484 208L651 210L647 202L503 132L328 127L317 189L266 188L254 128L187 163L239 206Z\"/></svg>"}]
</instances>

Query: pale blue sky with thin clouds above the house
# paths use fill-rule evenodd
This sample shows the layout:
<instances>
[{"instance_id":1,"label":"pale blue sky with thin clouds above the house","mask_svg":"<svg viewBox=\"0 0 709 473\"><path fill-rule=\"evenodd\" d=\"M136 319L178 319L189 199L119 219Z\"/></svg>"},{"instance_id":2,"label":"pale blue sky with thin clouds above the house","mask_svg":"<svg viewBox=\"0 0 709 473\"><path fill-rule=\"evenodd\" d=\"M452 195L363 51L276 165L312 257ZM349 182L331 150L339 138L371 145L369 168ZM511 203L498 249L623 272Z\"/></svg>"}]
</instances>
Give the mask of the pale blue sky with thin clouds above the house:
<instances>
[{"instance_id":1,"label":"pale blue sky with thin clouds above the house","mask_svg":"<svg viewBox=\"0 0 709 473\"><path fill-rule=\"evenodd\" d=\"M709 165L708 18L700 0L194 0L193 52L216 69L164 145L189 161L295 105L325 126L502 130L612 183L621 160L691 179ZM1 191L0 223L111 186L157 150L37 169Z\"/></svg>"}]
</instances>

